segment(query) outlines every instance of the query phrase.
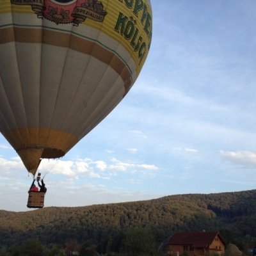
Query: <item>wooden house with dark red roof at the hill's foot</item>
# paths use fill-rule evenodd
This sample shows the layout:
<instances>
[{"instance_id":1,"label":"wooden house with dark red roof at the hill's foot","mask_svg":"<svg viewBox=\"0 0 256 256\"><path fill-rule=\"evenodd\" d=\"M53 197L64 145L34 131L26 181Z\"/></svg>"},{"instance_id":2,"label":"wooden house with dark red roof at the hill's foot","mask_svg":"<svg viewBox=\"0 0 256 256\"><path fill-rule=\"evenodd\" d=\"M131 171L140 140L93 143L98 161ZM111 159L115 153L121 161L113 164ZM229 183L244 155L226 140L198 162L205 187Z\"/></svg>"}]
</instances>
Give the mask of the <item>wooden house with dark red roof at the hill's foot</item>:
<instances>
[{"instance_id":1,"label":"wooden house with dark red roof at the hill's foot","mask_svg":"<svg viewBox=\"0 0 256 256\"><path fill-rule=\"evenodd\" d=\"M175 232L161 245L169 254L179 256L224 255L225 245L220 232Z\"/></svg>"}]
</instances>

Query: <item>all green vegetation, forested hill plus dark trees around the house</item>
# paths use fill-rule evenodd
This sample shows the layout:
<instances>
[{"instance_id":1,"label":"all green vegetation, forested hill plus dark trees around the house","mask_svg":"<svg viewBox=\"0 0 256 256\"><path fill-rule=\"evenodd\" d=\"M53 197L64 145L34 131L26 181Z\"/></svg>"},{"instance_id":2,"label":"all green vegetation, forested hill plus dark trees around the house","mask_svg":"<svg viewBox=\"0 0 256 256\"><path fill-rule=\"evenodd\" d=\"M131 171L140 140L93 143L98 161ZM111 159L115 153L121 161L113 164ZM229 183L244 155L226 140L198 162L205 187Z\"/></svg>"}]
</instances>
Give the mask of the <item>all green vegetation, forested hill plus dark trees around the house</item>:
<instances>
[{"instance_id":1,"label":"all green vegetation, forested hill plus dark trees around the house","mask_svg":"<svg viewBox=\"0 0 256 256\"><path fill-rule=\"evenodd\" d=\"M80 255L160 255L157 248L173 232L203 229L220 230L243 251L255 246L256 190L0 211L0 256L63 255L65 244L79 246Z\"/></svg>"}]
</instances>

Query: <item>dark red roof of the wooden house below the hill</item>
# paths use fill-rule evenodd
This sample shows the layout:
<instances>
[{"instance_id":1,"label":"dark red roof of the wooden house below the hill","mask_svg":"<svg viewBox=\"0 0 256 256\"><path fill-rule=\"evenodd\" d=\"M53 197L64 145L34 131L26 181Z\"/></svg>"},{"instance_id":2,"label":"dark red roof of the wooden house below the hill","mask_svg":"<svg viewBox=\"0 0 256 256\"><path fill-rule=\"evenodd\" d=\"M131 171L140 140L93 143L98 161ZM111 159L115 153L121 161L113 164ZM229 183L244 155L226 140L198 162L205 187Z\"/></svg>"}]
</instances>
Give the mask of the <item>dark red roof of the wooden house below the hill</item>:
<instances>
[{"instance_id":1,"label":"dark red roof of the wooden house below the hill","mask_svg":"<svg viewBox=\"0 0 256 256\"><path fill-rule=\"evenodd\" d=\"M175 232L167 244L186 244L194 248L206 248L218 236L218 232Z\"/></svg>"}]
</instances>

